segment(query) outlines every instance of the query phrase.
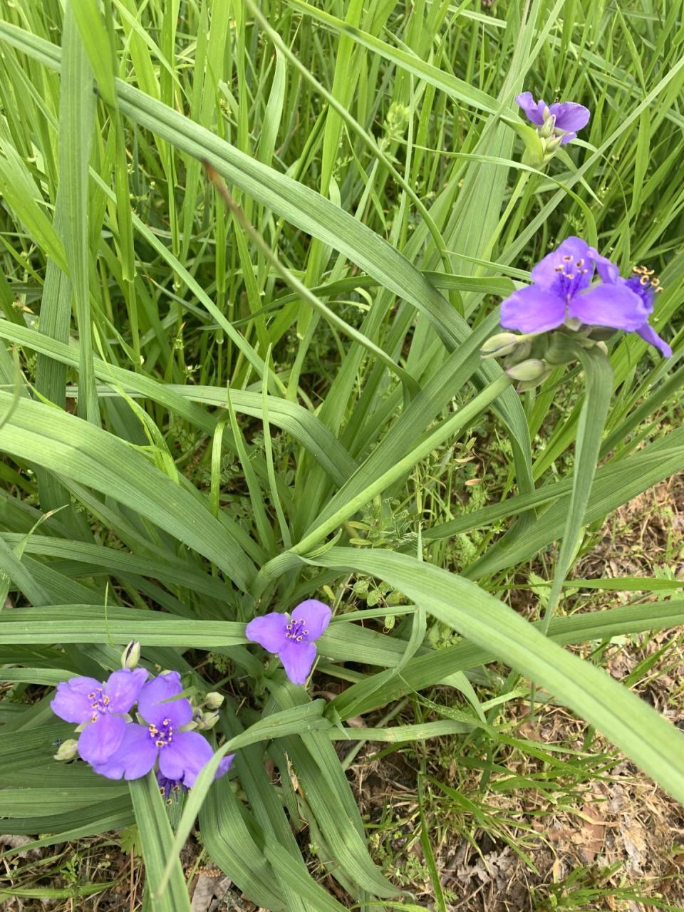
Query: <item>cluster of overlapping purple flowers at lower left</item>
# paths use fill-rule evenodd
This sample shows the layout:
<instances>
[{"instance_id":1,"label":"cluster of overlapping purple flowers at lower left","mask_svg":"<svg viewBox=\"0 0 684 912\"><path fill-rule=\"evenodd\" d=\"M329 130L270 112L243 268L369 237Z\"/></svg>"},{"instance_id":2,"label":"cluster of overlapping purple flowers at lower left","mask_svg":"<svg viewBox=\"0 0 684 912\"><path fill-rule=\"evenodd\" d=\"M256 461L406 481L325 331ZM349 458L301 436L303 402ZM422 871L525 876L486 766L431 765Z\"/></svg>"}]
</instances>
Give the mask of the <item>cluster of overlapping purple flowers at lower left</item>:
<instances>
[{"instance_id":1,"label":"cluster of overlapping purple flowers at lower left","mask_svg":"<svg viewBox=\"0 0 684 912\"><path fill-rule=\"evenodd\" d=\"M193 710L182 692L181 675L167 671L148 679L144 668L122 668L104 683L94 678L71 678L57 687L50 703L67 722L78 723L78 755L108 779L140 779L157 769L161 790L171 792L194 785L212 758L212 745L191 731ZM144 724L130 718L138 703ZM216 776L230 768L233 754L223 758Z\"/></svg>"}]
</instances>

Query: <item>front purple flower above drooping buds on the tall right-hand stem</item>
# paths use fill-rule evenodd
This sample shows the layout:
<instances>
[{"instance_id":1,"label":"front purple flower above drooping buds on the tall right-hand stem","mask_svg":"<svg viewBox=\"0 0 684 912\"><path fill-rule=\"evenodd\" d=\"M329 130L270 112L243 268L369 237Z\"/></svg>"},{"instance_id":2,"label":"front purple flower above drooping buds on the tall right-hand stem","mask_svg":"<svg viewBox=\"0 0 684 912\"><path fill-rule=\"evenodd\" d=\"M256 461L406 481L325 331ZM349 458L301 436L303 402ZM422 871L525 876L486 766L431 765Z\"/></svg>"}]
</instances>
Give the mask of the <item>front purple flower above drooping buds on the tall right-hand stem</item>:
<instances>
[{"instance_id":1,"label":"front purple flower above drooping buds on the tall right-hand stem","mask_svg":"<svg viewBox=\"0 0 684 912\"><path fill-rule=\"evenodd\" d=\"M595 268L603 283L590 288ZM503 301L501 324L543 333L571 319L586 326L638 331L648 323L648 304L618 279L615 264L581 238L569 237L534 266L532 285Z\"/></svg>"}]
</instances>

